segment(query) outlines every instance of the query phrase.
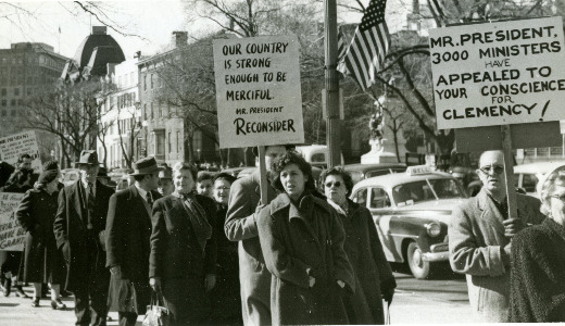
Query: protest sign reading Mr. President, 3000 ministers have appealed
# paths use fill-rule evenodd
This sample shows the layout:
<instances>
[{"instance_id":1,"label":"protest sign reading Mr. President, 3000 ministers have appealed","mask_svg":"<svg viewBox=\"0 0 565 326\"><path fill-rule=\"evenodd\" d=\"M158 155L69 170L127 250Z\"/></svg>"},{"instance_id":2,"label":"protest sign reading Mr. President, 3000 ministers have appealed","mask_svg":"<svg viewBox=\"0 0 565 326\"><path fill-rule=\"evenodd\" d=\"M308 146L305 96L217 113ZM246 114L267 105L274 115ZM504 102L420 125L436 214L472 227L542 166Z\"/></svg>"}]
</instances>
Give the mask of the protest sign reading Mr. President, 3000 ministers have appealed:
<instances>
[{"instance_id":1,"label":"protest sign reading Mr. President, 3000 ministers have appealed","mask_svg":"<svg viewBox=\"0 0 565 326\"><path fill-rule=\"evenodd\" d=\"M561 17L431 29L439 129L565 118Z\"/></svg>"}]
</instances>

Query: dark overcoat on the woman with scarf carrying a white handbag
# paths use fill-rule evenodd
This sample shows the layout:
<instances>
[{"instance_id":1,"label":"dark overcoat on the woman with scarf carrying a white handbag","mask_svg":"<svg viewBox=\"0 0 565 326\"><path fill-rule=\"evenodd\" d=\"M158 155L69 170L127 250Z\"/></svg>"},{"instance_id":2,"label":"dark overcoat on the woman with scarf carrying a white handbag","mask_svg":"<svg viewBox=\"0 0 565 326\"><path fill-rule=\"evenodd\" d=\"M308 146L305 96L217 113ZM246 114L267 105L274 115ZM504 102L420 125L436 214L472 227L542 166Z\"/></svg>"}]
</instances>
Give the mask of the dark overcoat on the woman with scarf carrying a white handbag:
<instances>
[{"instance_id":1,"label":"dark overcoat on the woman with scarf carrying a white handbag","mask_svg":"<svg viewBox=\"0 0 565 326\"><path fill-rule=\"evenodd\" d=\"M200 195L194 195L194 199L213 226L214 201ZM201 323L210 312L204 277L216 274L215 233L202 248L194 231L198 227L192 226L184 200L175 193L155 201L151 223L149 277L161 278L163 297L165 302L173 303L176 322Z\"/></svg>"}]
</instances>

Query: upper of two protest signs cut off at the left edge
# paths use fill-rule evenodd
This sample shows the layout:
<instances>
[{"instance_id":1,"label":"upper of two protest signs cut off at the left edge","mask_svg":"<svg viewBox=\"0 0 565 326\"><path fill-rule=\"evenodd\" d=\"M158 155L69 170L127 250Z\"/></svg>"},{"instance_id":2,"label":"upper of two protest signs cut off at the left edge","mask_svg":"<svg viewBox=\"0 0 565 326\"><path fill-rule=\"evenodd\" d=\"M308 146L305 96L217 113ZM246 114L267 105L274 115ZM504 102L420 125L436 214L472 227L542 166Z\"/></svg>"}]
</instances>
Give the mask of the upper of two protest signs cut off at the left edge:
<instances>
[{"instance_id":1,"label":"upper of two protest signs cut off at the left edge","mask_svg":"<svg viewBox=\"0 0 565 326\"><path fill-rule=\"evenodd\" d=\"M0 138L0 155L2 156L2 161L17 167L17 158L21 154L29 154L29 156L32 156L32 168L34 168L34 172L41 172L42 166L35 131L29 130Z\"/></svg>"}]
</instances>

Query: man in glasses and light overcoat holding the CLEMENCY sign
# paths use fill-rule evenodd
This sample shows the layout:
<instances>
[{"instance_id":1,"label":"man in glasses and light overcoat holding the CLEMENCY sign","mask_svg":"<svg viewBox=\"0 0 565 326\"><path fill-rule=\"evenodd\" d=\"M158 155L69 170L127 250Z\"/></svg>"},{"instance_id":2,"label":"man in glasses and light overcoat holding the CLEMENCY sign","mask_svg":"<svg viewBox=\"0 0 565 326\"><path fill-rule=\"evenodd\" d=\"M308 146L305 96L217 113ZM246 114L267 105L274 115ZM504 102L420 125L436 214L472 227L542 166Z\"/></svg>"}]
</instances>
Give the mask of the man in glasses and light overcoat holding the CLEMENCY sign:
<instances>
[{"instance_id":1,"label":"man in glasses and light overcoat holding the CLEMENCY sign","mask_svg":"<svg viewBox=\"0 0 565 326\"><path fill-rule=\"evenodd\" d=\"M448 229L451 267L466 274L473 311L488 323L508 319L512 238L544 218L539 200L520 193L518 216L508 216L503 158L502 151L480 155L477 174L482 189L453 210Z\"/></svg>"}]
</instances>

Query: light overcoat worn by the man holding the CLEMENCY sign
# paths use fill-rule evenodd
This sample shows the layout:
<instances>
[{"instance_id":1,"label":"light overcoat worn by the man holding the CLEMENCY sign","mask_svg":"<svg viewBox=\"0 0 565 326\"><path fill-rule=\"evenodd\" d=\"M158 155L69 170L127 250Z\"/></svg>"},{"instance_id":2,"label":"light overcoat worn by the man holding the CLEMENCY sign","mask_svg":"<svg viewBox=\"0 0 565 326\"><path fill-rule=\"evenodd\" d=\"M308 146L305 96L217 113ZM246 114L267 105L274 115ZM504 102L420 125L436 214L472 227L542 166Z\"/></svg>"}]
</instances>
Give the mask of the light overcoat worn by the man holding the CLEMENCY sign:
<instances>
[{"instance_id":1,"label":"light overcoat worn by the man holding the CLEMENCY sign","mask_svg":"<svg viewBox=\"0 0 565 326\"><path fill-rule=\"evenodd\" d=\"M539 224L540 201L516 193L518 215L526 224ZM507 322L510 265L502 251L510 246L503 216L485 189L453 210L449 235L449 260L455 273L466 274L473 311L486 323ZM510 261L510 260L508 260Z\"/></svg>"}]
</instances>

